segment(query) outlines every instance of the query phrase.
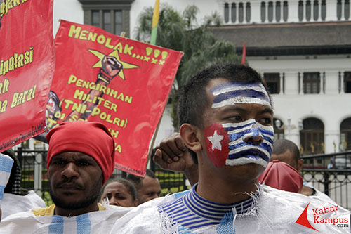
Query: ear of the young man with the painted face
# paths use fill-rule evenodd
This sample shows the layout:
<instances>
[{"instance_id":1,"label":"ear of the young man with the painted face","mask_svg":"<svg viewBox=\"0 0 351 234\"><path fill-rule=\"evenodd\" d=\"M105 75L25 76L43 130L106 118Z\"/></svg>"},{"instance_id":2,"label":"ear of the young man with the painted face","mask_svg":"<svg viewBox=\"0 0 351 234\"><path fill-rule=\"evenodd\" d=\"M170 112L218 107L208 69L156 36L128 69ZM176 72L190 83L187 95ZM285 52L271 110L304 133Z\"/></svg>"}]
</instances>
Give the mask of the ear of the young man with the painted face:
<instances>
[{"instance_id":1,"label":"ear of the young man with the painted face","mask_svg":"<svg viewBox=\"0 0 351 234\"><path fill-rule=\"evenodd\" d=\"M184 144L194 152L202 150L199 131L199 128L192 124L183 124L180 126L180 136L182 136Z\"/></svg>"}]
</instances>

